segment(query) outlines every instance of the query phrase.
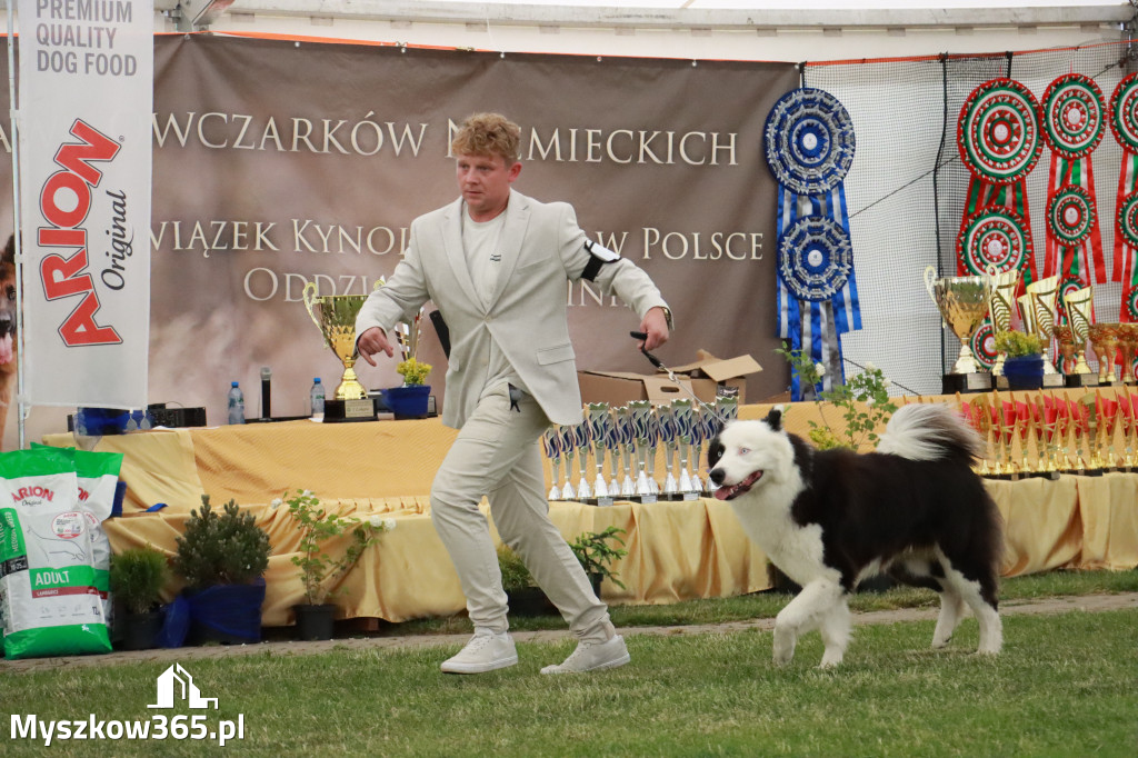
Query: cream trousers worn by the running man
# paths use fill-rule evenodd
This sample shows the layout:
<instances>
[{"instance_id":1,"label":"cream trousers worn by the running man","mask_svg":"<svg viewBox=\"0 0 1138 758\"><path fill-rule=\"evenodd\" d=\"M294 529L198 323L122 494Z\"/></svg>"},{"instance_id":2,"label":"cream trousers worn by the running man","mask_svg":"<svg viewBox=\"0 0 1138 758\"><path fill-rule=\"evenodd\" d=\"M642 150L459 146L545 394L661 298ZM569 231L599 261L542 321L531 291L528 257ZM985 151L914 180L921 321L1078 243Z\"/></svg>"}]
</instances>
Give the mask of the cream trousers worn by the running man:
<instances>
[{"instance_id":1,"label":"cream trousers worn by the running man","mask_svg":"<svg viewBox=\"0 0 1138 758\"><path fill-rule=\"evenodd\" d=\"M528 394L511 410L506 384L484 392L435 476L431 521L459 572L476 628L510 628L497 552L478 509L486 495L502 541L525 561L569 629L580 640L604 642L613 634L608 607L550 520L537 442L549 426Z\"/></svg>"}]
</instances>

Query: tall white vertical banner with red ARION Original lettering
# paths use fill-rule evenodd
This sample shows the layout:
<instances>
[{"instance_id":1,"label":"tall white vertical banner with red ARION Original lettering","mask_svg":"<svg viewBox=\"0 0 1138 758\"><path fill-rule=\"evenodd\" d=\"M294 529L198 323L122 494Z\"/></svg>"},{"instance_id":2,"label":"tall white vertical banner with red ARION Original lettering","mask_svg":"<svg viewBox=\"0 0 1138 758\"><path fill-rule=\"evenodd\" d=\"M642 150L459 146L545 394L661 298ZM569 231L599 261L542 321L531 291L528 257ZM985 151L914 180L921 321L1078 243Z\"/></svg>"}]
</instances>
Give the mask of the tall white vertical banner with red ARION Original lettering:
<instances>
[{"instance_id":1,"label":"tall white vertical banner with red ARION Original lettering","mask_svg":"<svg viewBox=\"0 0 1138 758\"><path fill-rule=\"evenodd\" d=\"M145 406L154 7L17 7L27 402Z\"/></svg>"}]
</instances>

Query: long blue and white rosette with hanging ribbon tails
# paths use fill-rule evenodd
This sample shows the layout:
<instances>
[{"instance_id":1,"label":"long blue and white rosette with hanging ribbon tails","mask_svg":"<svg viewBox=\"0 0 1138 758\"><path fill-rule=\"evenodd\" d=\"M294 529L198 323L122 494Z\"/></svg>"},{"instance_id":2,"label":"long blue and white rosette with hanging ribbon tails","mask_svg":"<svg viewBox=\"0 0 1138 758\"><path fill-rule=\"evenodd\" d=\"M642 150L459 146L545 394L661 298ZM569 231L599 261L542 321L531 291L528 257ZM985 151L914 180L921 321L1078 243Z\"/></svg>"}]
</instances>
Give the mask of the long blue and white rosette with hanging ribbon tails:
<instances>
[{"instance_id":1,"label":"long blue and white rosette with hanging ribbon tails","mask_svg":"<svg viewBox=\"0 0 1138 758\"><path fill-rule=\"evenodd\" d=\"M856 145L849 113L824 90L792 90L767 116L767 163L778 181L778 336L826 368L823 389L844 380L840 336L861 328L842 187ZM791 398L802 399L797 373Z\"/></svg>"}]
</instances>

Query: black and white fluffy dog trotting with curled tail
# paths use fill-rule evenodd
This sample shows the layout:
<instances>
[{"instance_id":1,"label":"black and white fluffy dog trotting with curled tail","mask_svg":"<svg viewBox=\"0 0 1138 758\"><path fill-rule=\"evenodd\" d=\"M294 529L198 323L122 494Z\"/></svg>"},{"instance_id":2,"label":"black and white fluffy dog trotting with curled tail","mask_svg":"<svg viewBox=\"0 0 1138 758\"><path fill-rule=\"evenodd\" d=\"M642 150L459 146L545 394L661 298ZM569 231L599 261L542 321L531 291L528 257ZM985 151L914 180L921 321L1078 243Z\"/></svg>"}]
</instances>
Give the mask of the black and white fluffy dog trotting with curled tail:
<instances>
[{"instance_id":1,"label":"black and white fluffy dog trotting with curled tail","mask_svg":"<svg viewBox=\"0 0 1138 758\"><path fill-rule=\"evenodd\" d=\"M822 667L840 664L848 595L879 572L940 592L933 648L948 644L967 604L979 651L1000 651L1001 519L971 468L981 450L954 410L934 404L902 406L866 454L816 451L783 431L777 410L719 432L708 448L715 496L731 501L747 535L802 586L775 620L776 664L787 664L799 635L814 628L825 644Z\"/></svg>"}]
</instances>

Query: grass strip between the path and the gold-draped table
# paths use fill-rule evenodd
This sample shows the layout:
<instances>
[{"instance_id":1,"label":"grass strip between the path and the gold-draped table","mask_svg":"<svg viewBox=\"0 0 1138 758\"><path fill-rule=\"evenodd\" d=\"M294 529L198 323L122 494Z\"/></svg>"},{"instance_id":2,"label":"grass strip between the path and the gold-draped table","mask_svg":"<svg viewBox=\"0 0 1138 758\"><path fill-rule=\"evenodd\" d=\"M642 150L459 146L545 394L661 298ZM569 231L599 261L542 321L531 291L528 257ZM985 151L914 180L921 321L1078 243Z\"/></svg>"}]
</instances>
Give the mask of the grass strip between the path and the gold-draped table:
<instances>
[{"instance_id":1,"label":"grass strip between the path and the gold-draped table","mask_svg":"<svg viewBox=\"0 0 1138 758\"><path fill-rule=\"evenodd\" d=\"M1119 592L1138 592L1138 570L1049 571L1005 579L1000 586L1000 602L1014 604L1040 598ZM785 593L759 592L737 598L692 600L669 605L615 605L610 609L610 615L613 624L619 627L718 624L774 618L787 602L790 595ZM939 605L940 599L935 592L916 587L896 587L882 593L859 593L850 600L850 609L853 611ZM510 626L516 631L566 628L564 621L559 616L536 618L511 616ZM393 624L384 629L386 634L457 634L471 631L472 627L465 616Z\"/></svg>"}]
</instances>

